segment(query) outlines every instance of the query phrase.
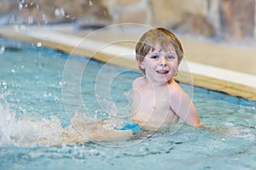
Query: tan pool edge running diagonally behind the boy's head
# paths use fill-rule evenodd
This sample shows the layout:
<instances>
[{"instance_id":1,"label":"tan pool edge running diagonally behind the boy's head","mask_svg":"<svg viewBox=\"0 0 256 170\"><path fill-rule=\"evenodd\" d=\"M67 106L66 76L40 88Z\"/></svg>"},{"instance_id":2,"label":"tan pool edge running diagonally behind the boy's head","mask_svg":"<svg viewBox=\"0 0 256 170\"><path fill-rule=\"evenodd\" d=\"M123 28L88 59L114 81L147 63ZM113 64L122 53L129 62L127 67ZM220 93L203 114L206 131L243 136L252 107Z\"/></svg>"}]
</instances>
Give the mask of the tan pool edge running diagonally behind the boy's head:
<instances>
[{"instance_id":1,"label":"tan pool edge running diagonally behind the boy's head","mask_svg":"<svg viewBox=\"0 0 256 170\"><path fill-rule=\"evenodd\" d=\"M34 29L34 33L32 30ZM44 35L41 35L39 31L44 31ZM39 33L37 33L39 32ZM42 32L41 32L42 33ZM61 38L53 38L51 35L60 34L59 36L63 39L73 38L73 42L63 41ZM42 46L47 48L55 48L61 50L67 54L76 54L83 57L90 56L92 59L99 60L108 64L118 65L131 70L137 70L138 67L135 59L117 57L113 54L108 54L107 52L95 53L89 46L78 46L81 41L81 37L72 34L65 34L61 31L56 31L50 28L45 29L44 27L28 27L24 30L20 29L15 31L13 26L6 26L0 28L0 35L2 37L15 39L24 42L32 42L37 44L41 42ZM41 36L40 36L41 35ZM76 47L76 48L74 48ZM197 65L198 66L198 65ZM207 65L204 65L207 66ZM200 67L200 66L199 66ZM228 71L228 70L227 70ZM178 81L189 83L201 88L207 88L218 92L223 92L233 96L256 100L256 83L255 86L246 84L241 84L237 82L225 81L224 78L220 79L218 77L212 77L211 74L204 75L204 73L199 74L196 71L179 71ZM246 76L247 74L245 74ZM254 77L254 75L251 75ZM192 77L192 78L191 78ZM256 79L255 79L256 80Z\"/></svg>"}]
</instances>

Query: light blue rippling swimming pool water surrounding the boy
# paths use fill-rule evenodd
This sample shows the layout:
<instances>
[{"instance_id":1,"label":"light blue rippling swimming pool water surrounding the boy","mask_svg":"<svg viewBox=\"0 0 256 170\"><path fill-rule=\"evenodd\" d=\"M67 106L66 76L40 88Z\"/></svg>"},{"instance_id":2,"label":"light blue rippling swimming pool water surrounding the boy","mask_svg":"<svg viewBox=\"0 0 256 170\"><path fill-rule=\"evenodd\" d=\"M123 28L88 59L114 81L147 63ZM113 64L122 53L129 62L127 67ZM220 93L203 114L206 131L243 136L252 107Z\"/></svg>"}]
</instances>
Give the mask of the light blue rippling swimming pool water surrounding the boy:
<instances>
[{"instance_id":1,"label":"light blue rippling swimming pool water surrounding the boy","mask_svg":"<svg viewBox=\"0 0 256 170\"><path fill-rule=\"evenodd\" d=\"M31 47L2 41L9 45L0 55L0 169L256 168L255 102L186 84L181 85L193 94L201 122L240 133L177 123L160 133L129 141L18 146L38 138L61 139L57 134L75 113L91 121L127 116L127 94L132 80L141 74L37 44ZM70 79L63 79L67 59L76 68L86 65L83 74L76 77L74 72ZM62 87L66 87L65 94L61 94Z\"/></svg>"}]
</instances>

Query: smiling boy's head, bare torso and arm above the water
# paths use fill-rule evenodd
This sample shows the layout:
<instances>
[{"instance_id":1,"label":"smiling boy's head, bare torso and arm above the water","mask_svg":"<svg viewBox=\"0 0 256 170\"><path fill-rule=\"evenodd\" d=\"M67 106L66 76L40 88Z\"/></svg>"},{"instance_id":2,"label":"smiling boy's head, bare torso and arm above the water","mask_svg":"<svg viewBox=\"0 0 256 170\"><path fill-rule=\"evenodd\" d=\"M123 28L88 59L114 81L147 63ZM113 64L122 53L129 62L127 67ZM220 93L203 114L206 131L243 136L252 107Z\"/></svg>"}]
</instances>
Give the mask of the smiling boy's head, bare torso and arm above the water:
<instances>
[{"instance_id":1,"label":"smiling boy's head, bare torso and arm above the water","mask_svg":"<svg viewBox=\"0 0 256 170\"><path fill-rule=\"evenodd\" d=\"M183 59L177 37L161 27L147 31L137 42L136 59L145 76L132 84L131 119L145 129L176 123L179 118L202 126L189 95L173 79Z\"/></svg>"}]
</instances>

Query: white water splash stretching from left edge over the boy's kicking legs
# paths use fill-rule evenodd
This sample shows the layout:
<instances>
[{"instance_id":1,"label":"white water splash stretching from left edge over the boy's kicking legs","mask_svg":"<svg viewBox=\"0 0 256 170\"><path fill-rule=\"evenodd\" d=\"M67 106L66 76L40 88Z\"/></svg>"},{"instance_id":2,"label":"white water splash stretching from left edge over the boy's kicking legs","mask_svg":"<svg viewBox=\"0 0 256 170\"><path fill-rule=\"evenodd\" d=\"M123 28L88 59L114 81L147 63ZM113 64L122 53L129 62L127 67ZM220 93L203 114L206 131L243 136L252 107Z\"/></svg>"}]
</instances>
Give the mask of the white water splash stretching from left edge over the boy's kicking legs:
<instances>
[{"instance_id":1,"label":"white water splash stretching from left edge over the boy's kicking legs","mask_svg":"<svg viewBox=\"0 0 256 170\"><path fill-rule=\"evenodd\" d=\"M57 116L50 116L49 119L36 113L17 116L10 108L8 103L0 103L0 146L54 146L88 142L92 137L90 134L94 137L101 136L102 130L107 132L113 127L118 127L120 123L115 120L104 121L103 124L102 121L90 122L90 117L75 112L70 120L72 126L68 124L63 127ZM108 139L108 135L106 137Z\"/></svg>"}]
</instances>

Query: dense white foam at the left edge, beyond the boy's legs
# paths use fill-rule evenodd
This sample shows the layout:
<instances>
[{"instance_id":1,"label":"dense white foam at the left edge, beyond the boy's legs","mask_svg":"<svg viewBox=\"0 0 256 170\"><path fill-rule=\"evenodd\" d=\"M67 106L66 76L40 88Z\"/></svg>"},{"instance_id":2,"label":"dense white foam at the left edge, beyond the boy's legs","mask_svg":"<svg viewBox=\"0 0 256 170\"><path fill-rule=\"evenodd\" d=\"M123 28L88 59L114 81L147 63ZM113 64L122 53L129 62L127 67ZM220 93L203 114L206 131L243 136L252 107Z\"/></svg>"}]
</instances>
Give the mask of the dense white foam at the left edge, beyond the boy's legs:
<instances>
[{"instance_id":1,"label":"dense white foam at the left edge, beyond the boy's legs","mask_svg":"<svg viewBox=\"0 0 256 170\"><path fill-rule=\"evenodd\" d=\"M0 104L0 145L54 144L62 140L63 130L55 117L50 120L31 116L17 118L8 104Z\"/></svg>"}]
</instances>

